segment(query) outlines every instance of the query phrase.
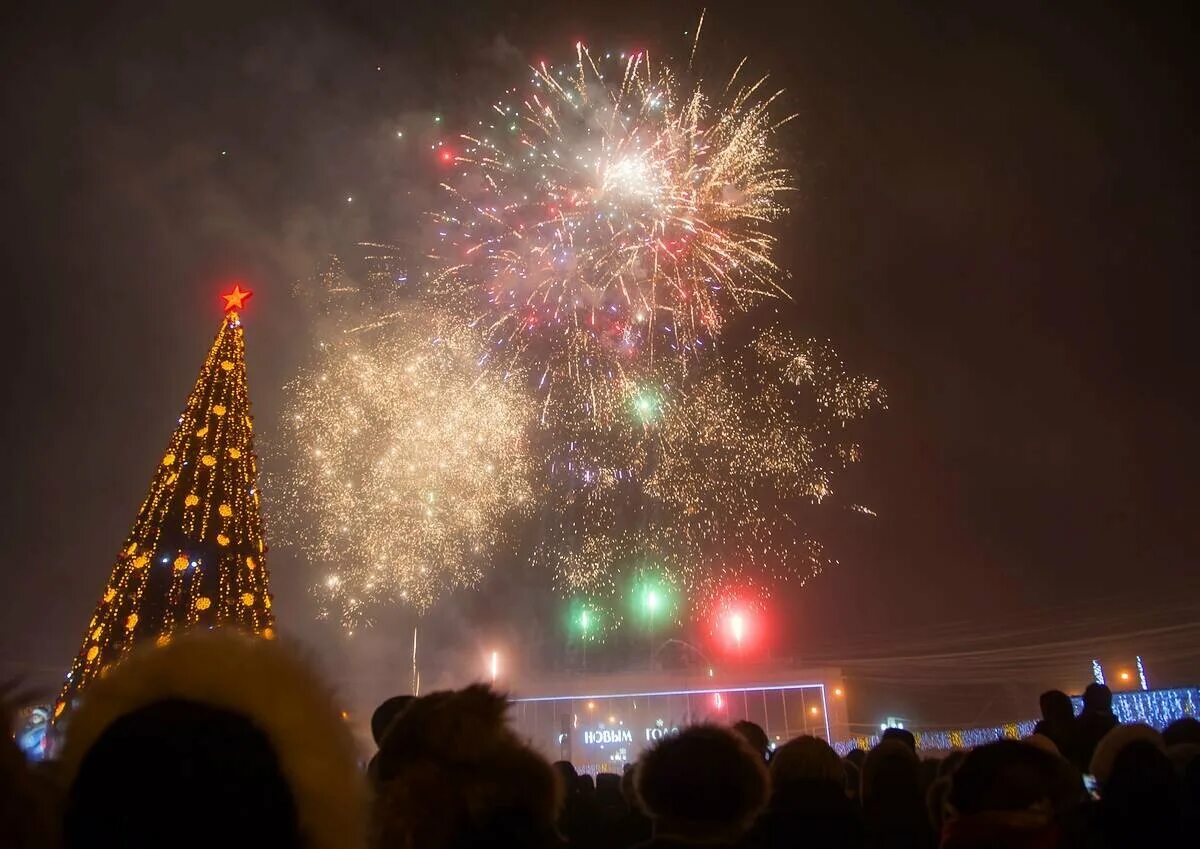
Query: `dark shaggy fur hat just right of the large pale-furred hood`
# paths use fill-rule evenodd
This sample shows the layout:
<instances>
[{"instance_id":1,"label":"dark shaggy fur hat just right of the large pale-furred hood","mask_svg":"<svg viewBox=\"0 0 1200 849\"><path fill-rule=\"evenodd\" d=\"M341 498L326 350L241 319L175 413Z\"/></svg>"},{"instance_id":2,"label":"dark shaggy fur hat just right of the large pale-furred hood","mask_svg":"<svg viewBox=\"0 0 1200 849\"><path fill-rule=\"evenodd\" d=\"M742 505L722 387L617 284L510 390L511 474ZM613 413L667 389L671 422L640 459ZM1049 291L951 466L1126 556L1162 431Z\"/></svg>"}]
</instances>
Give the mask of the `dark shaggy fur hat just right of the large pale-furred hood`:
<instances>
[{"instance_id":1,"label":"dark shaggy fur hat just right of the large pale-furred hood","mask_svg":"<svg viewBox=\"0 0 1200 849\"><path fill-rule=\"evenodd\" d=\"M484 685L413 702L379 751L380 845L442 849L557 843L562 785Z\"/></svg>"}]
</instances>

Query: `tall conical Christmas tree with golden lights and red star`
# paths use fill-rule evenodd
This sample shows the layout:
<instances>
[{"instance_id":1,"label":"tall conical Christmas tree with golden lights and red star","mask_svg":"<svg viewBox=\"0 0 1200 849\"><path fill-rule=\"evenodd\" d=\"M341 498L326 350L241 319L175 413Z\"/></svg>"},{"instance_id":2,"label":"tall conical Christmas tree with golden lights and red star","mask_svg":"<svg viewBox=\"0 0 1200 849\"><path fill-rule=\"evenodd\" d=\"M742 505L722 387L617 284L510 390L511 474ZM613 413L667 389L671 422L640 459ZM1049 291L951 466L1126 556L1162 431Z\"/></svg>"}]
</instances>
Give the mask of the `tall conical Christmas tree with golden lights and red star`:
<instances>
[{"instance_id":1,"label":"tall conical Christmas tree with golden lights and red star","mask_svg":"<svg viewBox=\"0 0 1200 849\"><path fill-rule=\"evenodd\" d=\"M248 296L240 287L222 295L221 330L116 555L55 718L138 643L196 627L275 636L238 317Z\"/></svg>"}]
</instances>

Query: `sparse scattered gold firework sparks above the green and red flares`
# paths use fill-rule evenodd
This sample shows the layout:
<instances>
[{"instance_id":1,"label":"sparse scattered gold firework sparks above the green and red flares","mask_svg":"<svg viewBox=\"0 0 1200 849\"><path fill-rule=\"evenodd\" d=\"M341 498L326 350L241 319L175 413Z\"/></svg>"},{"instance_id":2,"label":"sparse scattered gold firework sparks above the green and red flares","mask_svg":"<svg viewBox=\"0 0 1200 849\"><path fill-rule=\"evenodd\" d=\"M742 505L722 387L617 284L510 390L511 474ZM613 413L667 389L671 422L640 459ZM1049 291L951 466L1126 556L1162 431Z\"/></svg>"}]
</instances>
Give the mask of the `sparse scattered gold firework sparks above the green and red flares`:
<instances>
[{"instance_id":1,"label":"sparse scattered gold firework sparks above the green and red flares","mask_svg":"<svg viewBox=\"0 0 1200 849\"><path fill-rule=\"evenodd\" d=\"M565 594L612 595L629 572L671 576L698 609L732 585L769 595L827 562L794 520L860 451L850 426L882 408L824 345L768 330L685 391L558 446L534 553ZM857 508L857 507L856 507Z\"/></svg>"}]
</instances>

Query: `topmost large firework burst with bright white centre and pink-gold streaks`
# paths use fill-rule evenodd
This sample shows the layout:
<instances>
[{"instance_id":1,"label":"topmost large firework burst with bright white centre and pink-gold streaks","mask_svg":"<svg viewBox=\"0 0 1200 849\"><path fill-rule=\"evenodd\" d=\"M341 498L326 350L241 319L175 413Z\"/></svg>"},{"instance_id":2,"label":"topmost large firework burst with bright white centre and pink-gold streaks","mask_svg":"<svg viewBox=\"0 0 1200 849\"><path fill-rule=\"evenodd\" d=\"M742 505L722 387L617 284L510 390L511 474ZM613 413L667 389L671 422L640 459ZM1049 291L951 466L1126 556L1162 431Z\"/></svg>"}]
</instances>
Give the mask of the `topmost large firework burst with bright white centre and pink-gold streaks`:
<instances>
[{"instance_id":1,"label":"topmost large firework burst with bright white centre and pink-gold streaks","mask_svg":"<svg viewBox=\"0 0 1200 849\"><path fill-rule=\"evenodd\" d=\"M436 288L491 362L529 371L544 421L607 421L647 379L678 383L730 309L781 293L767 225L788 177L763 86L734 73L712 98L580 44L449 156Z\"/></svg>"}]
</instances>

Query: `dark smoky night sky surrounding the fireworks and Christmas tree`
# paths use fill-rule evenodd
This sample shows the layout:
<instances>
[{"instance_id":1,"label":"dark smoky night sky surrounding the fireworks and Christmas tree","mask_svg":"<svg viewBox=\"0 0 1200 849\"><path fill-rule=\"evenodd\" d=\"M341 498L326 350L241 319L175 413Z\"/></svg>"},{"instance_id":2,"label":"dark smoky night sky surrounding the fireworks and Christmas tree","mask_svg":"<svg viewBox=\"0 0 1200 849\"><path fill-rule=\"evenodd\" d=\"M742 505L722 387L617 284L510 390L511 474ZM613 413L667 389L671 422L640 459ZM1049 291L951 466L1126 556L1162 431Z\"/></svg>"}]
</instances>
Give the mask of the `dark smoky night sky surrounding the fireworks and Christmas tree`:
<instances>
[{"instance_id":1,"label":"dark smoky night sky surrounding the fireworks and Christmas tree","mask_svg":"<svg viewBox=\"0 0 1200 849\"><path fill-rule=\"evenodd\" d=\"M578 37L673 47L698 12L163 6L36 4L0 25L0 676L65 670L224 281L257 291L269 438L311 344L293 281L409 236L433 113L469 118ZM841 565L784 604L780 651L1045 640L1048 621L1102 636L1200 602L1195 22L990 6L709 4L709 60L750 54L798 115L787 320L890 404L846 482L878 518L830 523ZM353 654L312 621L314 572L281 547L271 566L284 628Z\"/></svg>"}]
</instances>

